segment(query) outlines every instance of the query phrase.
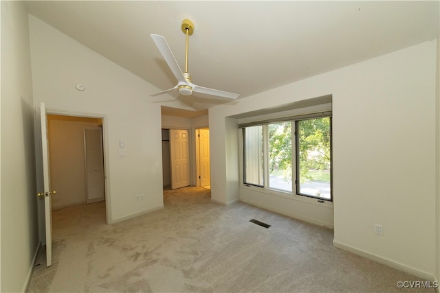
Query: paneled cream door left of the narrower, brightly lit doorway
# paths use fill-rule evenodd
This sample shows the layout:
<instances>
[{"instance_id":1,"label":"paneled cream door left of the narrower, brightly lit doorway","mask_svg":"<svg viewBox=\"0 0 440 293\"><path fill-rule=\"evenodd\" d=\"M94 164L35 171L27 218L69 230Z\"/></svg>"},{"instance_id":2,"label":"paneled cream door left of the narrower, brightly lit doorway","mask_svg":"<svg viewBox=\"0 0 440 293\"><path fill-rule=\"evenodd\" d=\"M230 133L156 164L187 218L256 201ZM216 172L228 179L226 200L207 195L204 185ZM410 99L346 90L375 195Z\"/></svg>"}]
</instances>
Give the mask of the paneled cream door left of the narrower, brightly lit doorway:
<instances>
[{"instance_id":1,"label":"paneled cream door left of the narrower, brightly lit doorway","mask_svg":"<svg viewBox=\"0 0 440 293\"><path fill-rule=\"evenodd\" d=\"M171 189L190 185L189 131L170 129Z\"/></svg>"}]
</instances>

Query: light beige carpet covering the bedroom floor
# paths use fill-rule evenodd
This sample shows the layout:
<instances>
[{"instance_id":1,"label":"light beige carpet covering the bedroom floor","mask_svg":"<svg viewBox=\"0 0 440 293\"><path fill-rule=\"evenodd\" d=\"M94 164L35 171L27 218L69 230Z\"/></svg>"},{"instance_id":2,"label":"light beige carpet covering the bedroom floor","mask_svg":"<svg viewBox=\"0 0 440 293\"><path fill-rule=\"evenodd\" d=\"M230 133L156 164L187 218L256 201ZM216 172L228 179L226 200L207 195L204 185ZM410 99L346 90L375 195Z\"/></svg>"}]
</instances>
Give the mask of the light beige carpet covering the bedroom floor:
<instances>
[{"instance_id":1,"label":"light beige carpet covering the bedroom floor","mask_svg":"<svg viewBox=\"0 0 440 293\"><path fill-rule=\"evenodd\" d=\"M104 202L54 211L54 264L41 253L28 292L417 292L396 286L416 277L334 248L327 228L214 204L201 187L165 190L164 205L113 225Z\"/></svg>"}]
</instances>

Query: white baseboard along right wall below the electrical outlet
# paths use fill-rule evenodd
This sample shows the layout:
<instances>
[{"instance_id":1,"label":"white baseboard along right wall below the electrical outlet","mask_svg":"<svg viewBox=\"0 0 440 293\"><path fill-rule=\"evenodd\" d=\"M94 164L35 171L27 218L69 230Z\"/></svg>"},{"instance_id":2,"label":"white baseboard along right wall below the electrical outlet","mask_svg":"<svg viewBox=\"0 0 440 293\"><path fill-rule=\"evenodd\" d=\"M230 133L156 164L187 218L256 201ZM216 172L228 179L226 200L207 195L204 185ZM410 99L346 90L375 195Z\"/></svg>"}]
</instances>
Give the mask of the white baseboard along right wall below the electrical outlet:
<instances>
[{"instance_id":1,"label":"white baseboard along right wall below the electrical outlet","mask_svg":"<svg viewBox=\"0 0 440 293\"><path fill-rule=\"evenodd\" d=\"M417 270L416 268L411 268L409 266L404 265L403 263L397 263L396 261L392 261L391 259L385 259L384 257L380 257L378 255L373 255L372 253L368 253L364 250L360 250L358 248L354 248L352 246L342 244L342 243L337 242L335 240L333 240L333 246L335 246L336 248L347 250L351 253L354 253L355 255L360 255L361 257L371 259L372 261L382 263L385 266L395 268L396 270L401 270L402 272L406 272L407 274L411 274L412 276L419 277L420 279L423 279L426 281L434 281L434 279L435 279L435 277L432 274L429 274L428 272L423 272L421 270ZM402 281L406 281L406 280L402 280ZM410 281L410 280L408 280L408 281ZM438 290L439 290L439 288L437 288L437 292L438 292Z\"/></svg>"}]
</instances>

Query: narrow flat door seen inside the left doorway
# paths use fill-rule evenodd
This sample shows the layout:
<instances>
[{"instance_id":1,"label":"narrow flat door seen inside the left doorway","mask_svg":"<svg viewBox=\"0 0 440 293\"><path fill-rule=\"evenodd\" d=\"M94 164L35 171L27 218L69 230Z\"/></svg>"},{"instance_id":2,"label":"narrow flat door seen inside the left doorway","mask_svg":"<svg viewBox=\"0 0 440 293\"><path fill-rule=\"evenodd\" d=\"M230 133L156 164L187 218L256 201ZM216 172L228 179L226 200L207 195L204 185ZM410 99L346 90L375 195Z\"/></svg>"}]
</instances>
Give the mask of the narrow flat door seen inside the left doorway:
<instances>
[{"instance_id":1,"label":"narrow flat door seen inside the left doorway","mask_svg":"<svg viewBox=\"0 0 440 293\"><path fill-rule=\"evenodd\" d=\"M84 128L86 202L105 199L104 155L102 152L102 128Z\"/></svg>"}]
</instances>

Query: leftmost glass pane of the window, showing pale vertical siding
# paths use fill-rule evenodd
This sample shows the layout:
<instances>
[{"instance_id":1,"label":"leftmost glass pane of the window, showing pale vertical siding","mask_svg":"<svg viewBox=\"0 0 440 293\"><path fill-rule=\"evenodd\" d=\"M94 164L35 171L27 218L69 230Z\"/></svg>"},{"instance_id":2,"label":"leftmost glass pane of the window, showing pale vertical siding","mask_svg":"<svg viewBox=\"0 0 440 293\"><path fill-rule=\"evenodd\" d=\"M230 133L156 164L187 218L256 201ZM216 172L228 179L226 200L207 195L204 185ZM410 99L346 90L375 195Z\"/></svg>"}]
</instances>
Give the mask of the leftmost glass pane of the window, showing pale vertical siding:
<instances>
[{"instance_id":1,"label":"leftmost glass pane of the window, showing pale vertical siding","mask_svg":"<svg viewBox=\"0 0 440 293\"><path fill-rule=\"evenodd\" d=\"M244 183L263 186L263 126L243 128Z\"/></svg>"}]
</instances>

